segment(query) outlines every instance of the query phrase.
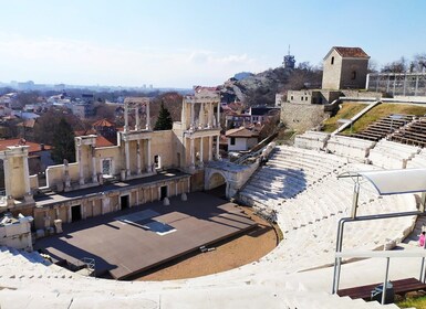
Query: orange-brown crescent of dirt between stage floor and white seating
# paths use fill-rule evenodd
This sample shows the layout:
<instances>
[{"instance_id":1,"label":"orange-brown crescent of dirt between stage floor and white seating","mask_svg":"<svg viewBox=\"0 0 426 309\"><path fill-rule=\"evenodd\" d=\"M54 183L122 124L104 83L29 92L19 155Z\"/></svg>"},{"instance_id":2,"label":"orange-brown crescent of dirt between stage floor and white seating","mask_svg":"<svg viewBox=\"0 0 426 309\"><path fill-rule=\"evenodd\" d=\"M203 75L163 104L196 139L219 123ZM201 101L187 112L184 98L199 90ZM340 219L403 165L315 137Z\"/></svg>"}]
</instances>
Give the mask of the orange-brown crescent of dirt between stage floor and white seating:
<instances>
[{"instance_id":1,"label":"orange-brown crescent of dirt between stage floor and white seating","mask_svg":"<svg viewBox=\"0 0 426 309\"><path fill-rule=\"evenodd\" d=\"M158 281L184 279L229 270L258 260L271 252L278 242L277 233L264 220L252 214L250 207L241 209L258 223L258 227L233 239L219 243L215 251L197 253L163 266L135 280Z\"/></svg>"}]
</instances>

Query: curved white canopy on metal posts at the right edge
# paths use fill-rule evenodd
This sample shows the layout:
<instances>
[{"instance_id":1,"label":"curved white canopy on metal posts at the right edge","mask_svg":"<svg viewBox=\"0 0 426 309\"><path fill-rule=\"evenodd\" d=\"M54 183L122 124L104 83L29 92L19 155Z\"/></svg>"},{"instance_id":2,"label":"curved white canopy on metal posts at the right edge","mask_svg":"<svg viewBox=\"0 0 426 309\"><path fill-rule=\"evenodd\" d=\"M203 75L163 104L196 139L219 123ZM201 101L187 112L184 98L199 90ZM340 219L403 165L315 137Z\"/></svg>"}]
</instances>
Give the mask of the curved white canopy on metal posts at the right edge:
<instances>
[{"instance_id":1,"label":"curved white canopy on metal posts at the right edge","mask_svg":"<svg viewBox=\"0 0 426 309\"><path fill-rule=\"evenodd\" d=\"M426 169L345 172L339 175L344 177L368 180L381 195L426 192Z\"/></svg>"}]
</instances>

